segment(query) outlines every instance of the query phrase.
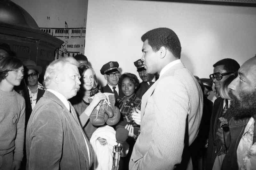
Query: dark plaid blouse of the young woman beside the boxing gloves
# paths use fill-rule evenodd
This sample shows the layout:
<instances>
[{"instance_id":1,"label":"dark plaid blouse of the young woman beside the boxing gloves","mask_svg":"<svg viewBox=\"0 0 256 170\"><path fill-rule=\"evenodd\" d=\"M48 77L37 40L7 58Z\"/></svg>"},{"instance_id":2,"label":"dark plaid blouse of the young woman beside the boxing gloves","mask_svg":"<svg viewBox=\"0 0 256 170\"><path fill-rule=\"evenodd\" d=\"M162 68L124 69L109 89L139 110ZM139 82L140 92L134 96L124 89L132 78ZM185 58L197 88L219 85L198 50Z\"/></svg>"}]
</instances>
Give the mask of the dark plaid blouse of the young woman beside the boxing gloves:
<instances>
[{"instance_id":1,"label":"dark plaid blouse of the young woman beside the boxing gloves","mask_svg":"<svg viewBox=\"0 0 256 170\"><path fill-rule=\"evenodd\" d=\"M135 104L135 108L140 110L140 105L141 105L141 99L138 98L136 96L136 94L134 94L130 99L128 99L125 103L123 103L124 98L126 96L122 97L122 98L117 98L117 107L120 109L121 112L121 119L120 121L125 121L125 122L131 122L131 113L132 111L132 107L130 107L130 103L133 102ZM122 118L123 116L123 118Z\"/></svg>"}]
</instances>

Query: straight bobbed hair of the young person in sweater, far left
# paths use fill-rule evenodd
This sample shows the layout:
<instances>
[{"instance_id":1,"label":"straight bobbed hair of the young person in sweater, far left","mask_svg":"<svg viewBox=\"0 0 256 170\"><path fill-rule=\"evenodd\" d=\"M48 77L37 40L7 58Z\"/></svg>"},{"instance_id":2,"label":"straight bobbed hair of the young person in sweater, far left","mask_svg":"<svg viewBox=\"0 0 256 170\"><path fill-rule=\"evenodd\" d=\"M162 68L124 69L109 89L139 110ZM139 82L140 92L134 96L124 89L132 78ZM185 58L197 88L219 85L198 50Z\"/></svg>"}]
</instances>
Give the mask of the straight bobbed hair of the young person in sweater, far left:
<instances>
[{"instance_id":1,"label":"straight bobbed hair of the young person in sweater, far left","mask_svg":"<svg viewBox=\"0 0 256 170\"><path fill-rule=\"evenodd\" d=\"M20 59L15 57L4 57L0 59L0 82L8 76L9 71L19 69L23 66Z\"/></svg>"}]
</instances>

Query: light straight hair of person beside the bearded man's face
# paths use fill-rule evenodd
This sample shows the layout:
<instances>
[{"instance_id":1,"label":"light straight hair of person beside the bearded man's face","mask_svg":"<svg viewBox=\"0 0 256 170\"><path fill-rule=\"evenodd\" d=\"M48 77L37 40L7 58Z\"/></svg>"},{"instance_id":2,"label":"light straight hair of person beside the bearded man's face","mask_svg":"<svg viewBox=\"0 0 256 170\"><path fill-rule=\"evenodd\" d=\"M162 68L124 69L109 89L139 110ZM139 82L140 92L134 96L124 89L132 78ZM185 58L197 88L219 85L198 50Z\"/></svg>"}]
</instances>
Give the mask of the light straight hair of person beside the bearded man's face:
<instances>
[{"instance_id":1,"label":"light straight hair of person beside the bearded man's face","mask_svg":"<svg viewBox=\"0 0 256 170\"><path fill-rule=\"evenodd\" d=\"M230 100L230 97L228 95L228 85L237 77L237 72L234 74L231 74L226 80L223 81L223 83L220 85L220 97L223 99Z\"/></svg>"}]
</instances>

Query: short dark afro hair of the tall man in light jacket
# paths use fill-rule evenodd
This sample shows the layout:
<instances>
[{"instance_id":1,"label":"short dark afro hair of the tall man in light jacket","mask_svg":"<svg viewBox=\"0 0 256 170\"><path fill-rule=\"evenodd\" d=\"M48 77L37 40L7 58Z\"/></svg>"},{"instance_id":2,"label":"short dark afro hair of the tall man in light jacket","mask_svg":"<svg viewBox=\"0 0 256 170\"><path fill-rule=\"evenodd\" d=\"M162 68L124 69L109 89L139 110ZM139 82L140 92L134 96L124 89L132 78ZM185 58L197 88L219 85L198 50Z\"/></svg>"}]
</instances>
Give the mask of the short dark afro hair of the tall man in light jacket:
<instances>
[{"instance_id":1,"label":"short dark afro hair of the tall man in light jacket","mask_svg":"<svg viewBox=\"0 0 256 170\"><path fill-rule=\"evenodd\" d=\"M181 46L180 40L176 33L169 28L156 28L142 35L141 40L152 47L153 51L158 51L161 47L165 47L172 52L174 57L180 59Z\"/></svg>"}]
</instances>

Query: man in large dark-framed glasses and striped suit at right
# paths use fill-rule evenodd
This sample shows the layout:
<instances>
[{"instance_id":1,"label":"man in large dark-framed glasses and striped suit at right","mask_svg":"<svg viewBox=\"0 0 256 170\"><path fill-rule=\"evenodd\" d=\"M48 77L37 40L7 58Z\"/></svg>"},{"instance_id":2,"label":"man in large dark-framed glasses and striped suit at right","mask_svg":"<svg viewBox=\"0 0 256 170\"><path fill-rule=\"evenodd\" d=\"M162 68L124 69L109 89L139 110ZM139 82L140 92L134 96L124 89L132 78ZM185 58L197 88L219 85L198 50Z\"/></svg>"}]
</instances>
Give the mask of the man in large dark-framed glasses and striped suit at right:
<instances>
[{"instance_id":1,"label":"man in large dark-framed glasses and striped suit at right","mask_svg":"<svg viewBox=\"0 0 256 170\"><path fill-rule=\"evenodd\" d=\"M230 75L238 71L240 65L236 60L225 58L217 63L213 64L213 74L209 77L212 82L215 84L216 92L220 92L220 85L226 80ZM213 104L212 116L210 121L210 131L208 137L208 148L205 161L205 169L212 170L212 167L221 166L219 159L221 155L226 153L226 148L224 145L223 130L220 128L220 117L225 119L230 119L230 114L227 114L226 108L228 102L221 97L218 97ZM217 165L218 164L218 165Z\"/></svg>"}]
</instances>

